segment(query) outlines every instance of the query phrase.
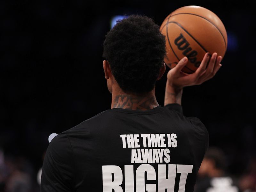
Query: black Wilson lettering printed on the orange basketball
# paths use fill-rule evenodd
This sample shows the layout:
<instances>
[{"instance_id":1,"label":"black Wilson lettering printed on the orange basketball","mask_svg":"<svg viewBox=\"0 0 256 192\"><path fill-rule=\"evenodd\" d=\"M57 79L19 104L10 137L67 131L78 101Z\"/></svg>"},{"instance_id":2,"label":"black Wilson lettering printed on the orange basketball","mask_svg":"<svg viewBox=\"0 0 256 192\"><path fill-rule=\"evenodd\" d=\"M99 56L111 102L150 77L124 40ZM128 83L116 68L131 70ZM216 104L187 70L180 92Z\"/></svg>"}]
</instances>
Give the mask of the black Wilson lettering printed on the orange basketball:
<instances>
[{"instance_id":1,"label":"black Wilson lettering printed on the orange basketball","mask_svg":"<svg viewBox=\"0 0 256 192\"><path fill-rule=\"evenodd\" d=\"M174 40L175 45L177 45L177 48L180 51L183 51L182 54L186 57L188 57L188 60L195 65L195 67L199 67L201 61L197 61L196 55L198 54L195 50L192 50L191 47L189 47L189 43L187 39L180 33L180 36L178 36Z\"/></svg>"}]
</instances>

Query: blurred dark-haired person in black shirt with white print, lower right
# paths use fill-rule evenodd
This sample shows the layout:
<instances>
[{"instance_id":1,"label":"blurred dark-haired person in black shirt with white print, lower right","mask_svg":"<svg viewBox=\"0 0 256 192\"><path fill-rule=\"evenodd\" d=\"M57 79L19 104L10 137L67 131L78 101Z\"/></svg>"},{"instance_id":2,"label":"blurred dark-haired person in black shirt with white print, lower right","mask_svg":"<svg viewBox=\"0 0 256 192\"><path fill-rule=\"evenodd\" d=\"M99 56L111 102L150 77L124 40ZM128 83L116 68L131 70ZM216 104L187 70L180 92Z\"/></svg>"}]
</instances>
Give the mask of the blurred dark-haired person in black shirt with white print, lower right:
<instances>
[{"instance_id":1,"label":"blurred dark-haired person in black shirt with white print, lower right","mask_svg":"<svg viewBox=\"0 0 256 192\"><path fill-rule=\"evenodd\" d=\"M198 171L195 192L240 192L236 181L226 172L224 153L209 148Z\"/></svg>"}]
</instances>

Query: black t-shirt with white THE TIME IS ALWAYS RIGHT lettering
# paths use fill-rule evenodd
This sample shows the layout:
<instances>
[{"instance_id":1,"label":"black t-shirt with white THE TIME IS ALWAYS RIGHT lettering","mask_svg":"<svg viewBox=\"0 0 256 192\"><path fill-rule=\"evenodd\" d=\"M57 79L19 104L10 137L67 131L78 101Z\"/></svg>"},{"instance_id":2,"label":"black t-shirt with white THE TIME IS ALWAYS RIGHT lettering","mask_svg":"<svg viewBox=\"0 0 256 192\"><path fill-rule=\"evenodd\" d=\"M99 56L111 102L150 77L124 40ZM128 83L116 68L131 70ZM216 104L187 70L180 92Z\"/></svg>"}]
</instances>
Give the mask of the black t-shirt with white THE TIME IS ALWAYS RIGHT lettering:
<instances>
[{"instance_id":1,"label":"black t-shirt with white THE TIME IS ALWAYS RIGHT lettering","mask_svg":"<svg viewBox=\"0 0 256 192\"><path fill-rule=\"evenodd\" d=\"M178 104L109 109L51 141L41 192L193 191L208 144L204 124Z\"/></svg>"}]
</instances>

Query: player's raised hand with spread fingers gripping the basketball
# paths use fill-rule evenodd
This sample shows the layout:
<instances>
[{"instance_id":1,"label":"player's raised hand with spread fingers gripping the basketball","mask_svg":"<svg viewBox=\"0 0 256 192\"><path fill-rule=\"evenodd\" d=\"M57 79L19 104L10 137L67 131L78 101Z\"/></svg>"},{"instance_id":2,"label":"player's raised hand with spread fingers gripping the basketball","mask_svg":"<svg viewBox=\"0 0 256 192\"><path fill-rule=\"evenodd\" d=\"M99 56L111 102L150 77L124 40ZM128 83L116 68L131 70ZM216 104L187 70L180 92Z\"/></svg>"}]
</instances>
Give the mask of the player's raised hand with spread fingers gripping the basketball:
<instances>
[{"instance_id":1,"label":"player's raised hand with spread fingers gripping the basketball","mask_svg":"<svg viewBox=\"0 0 256 192\"><path fill-rule=\"evenodd\" d=\"M220 69L222 57L217 53L213 53L210 58L210 54L206 53L200 66L192 74L186 74L181 69L187 64L188 58L184 57L180 62L172 68L167 74L167 83L175 88L182 89L186 86L200 85L205 81L211 79L217 71ZM210 60L210 61L209 61ZM209 64L207 66L207 63Z\"/></svg>"}]
</instances>

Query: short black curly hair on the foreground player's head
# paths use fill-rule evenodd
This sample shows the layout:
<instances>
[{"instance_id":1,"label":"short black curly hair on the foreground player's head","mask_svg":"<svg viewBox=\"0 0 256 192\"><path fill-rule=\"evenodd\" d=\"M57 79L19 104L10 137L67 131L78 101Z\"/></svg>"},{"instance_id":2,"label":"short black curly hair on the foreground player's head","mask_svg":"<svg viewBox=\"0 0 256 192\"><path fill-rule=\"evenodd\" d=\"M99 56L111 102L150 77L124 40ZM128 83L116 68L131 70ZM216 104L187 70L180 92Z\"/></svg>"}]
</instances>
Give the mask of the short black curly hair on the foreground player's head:
<instances>
[{"instance_id":1,"label":"short black curly hair on the foreground player's head","mask_svg":"<svg viewBox=\"0 0 256 192\"><path fill-rule=\"evenodd\" d=\"M165 50L165 36L147 16L118 20L103 44L103 57L124 92L146 93L156 83Z\"/></svg>"}]
</instances>

